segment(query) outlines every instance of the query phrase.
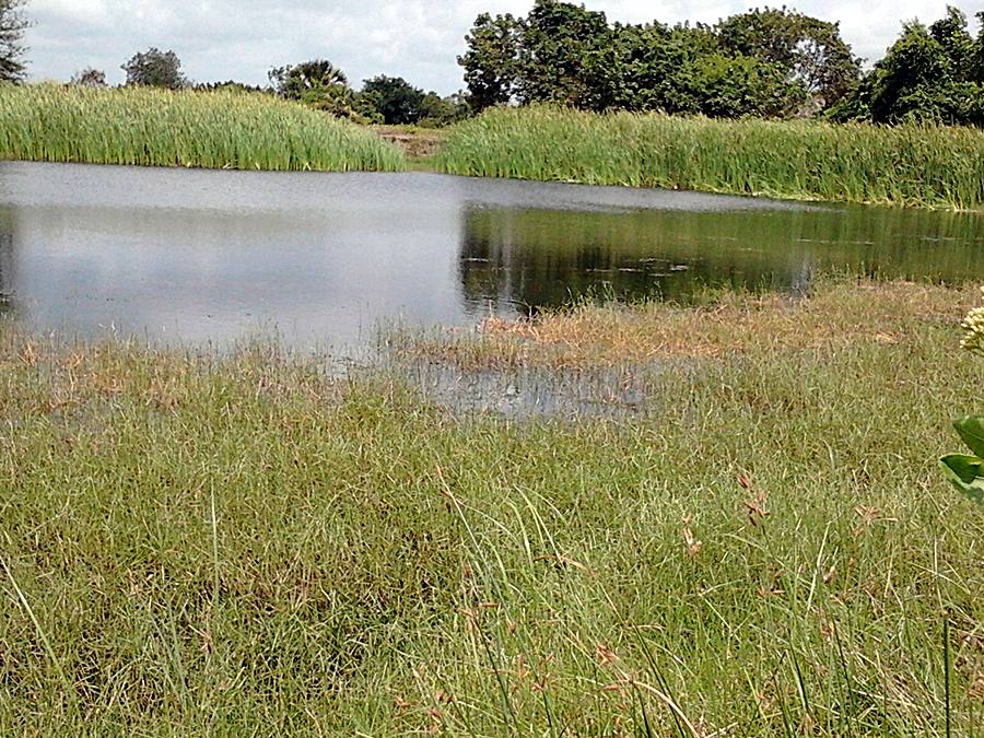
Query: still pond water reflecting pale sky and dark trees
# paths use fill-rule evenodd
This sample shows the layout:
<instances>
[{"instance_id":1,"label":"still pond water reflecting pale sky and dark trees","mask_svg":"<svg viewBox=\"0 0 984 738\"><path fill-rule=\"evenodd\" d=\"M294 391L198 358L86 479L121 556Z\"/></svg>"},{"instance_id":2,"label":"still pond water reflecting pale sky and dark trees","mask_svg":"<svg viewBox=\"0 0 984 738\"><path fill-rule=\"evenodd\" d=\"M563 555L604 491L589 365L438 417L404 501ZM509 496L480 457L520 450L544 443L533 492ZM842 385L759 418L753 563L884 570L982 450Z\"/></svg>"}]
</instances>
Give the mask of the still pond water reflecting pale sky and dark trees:
<instances>
[{"instance_id":1,"label":"still pond water reflecting pale sky and dark trees","mask_svg":"<svg viewBox=\"0 0 984 738\"><path fill-rule=\"evenodd\" d=\"M434 174L0 163L0 312L31 329L295 348L572 297L984 276L984 216Z\"/></svg>"}]
</instances>

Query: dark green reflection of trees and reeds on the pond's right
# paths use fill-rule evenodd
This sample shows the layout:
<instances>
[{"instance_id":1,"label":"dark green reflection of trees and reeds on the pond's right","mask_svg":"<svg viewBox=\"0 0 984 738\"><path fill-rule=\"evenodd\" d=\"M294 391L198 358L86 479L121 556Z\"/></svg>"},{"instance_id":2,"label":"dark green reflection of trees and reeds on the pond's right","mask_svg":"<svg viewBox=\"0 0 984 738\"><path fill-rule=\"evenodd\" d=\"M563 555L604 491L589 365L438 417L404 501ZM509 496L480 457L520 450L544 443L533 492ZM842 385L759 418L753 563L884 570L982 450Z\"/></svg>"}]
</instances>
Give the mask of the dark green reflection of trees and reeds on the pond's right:
<instances>
[{"instance_id":1,"label":"dark green reflection of trees and reeds on the pond's right","mask_svg":"<svg viewBox=\"0 0 984 738\"><path fill-rule=\"evenodd\" d=\"M571 212L472 209L459 276L483 308L704 288L803 292L817 271L963 279L984 270L980 216L888 209Z\"/></svg>"}]
</instances>

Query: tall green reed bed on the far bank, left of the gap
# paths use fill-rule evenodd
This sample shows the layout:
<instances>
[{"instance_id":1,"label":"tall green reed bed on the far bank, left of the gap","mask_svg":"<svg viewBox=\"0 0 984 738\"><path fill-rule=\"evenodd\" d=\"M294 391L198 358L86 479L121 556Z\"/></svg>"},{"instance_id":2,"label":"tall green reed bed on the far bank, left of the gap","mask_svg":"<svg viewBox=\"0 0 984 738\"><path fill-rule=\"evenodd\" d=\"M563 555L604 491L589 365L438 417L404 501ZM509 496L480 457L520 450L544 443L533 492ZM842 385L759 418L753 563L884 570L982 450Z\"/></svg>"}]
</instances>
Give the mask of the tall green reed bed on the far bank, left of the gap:
<instances>
[{"instance_id":1,"label":"tall green reed bed on the far bank, left of the gap","mask_svg":"<svg viewBox=\"0 0 984 738\"><path fill-rule=\"evenodd\" d=\"M399 171L372 131L267 95L0 86L0 159L234 169Z\"/></svg>"}]
</instances>

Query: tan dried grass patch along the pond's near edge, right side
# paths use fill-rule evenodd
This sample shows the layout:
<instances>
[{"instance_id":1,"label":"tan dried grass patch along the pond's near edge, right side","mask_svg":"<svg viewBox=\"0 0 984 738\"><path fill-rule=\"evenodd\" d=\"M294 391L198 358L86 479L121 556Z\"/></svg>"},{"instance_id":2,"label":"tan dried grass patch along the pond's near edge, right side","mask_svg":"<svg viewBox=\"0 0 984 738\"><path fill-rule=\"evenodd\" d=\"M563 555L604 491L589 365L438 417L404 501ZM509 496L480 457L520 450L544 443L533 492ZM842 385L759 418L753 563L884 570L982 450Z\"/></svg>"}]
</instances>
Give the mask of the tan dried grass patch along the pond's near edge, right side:
<instances>
[{"instance_id":1,"label":"tan dried grass patch along the pond's near edge, right side","mask_svg":"<svg viewBox=\"0 0 984 738\"><path fill-rule=\"evenodd\" d=\"M956 297L956 300L954 300ZM923 321L959 323L972 288L912 282L827 282L803 298L725 293L713 304L579 304L532 319L489 318L473 333L403 343L400 352L464 370L586 368L656 359L900 343Z\"/></svg>"}]
</instances>

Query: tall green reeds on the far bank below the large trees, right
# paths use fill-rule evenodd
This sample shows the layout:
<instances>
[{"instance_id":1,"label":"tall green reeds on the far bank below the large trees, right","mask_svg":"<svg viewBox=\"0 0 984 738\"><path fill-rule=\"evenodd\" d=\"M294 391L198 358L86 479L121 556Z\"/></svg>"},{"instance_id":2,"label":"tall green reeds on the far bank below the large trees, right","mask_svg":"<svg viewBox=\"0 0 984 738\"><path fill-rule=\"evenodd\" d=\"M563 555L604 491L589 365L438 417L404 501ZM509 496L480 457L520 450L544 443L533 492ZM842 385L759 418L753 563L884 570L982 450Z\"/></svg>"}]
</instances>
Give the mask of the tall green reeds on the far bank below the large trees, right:
<instances>
[{"instance_id":1,"label":"tall green reeds on the far bank below the large trees, right","mask_svg":"<svg viewBox=\"0 0 984 738\"><path fill-rule=\"evenodd\" d=\"M453 127L452 174L929 208L984 208L984 133L495 109Z\"/></svg>"}]
</instances>

